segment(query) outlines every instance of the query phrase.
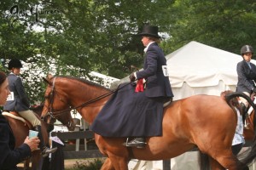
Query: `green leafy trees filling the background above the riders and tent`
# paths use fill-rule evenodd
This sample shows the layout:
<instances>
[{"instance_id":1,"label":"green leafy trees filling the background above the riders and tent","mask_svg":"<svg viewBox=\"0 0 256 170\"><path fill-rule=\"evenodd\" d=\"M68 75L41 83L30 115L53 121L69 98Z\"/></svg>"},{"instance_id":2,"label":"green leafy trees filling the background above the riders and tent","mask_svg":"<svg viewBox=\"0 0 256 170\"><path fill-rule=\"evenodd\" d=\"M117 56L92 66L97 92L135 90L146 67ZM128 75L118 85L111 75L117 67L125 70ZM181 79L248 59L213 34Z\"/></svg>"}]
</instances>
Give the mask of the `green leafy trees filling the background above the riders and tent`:
<instances>
[{"instance_id":1,"label":"green leafy trees filling the background above the riders and tent","mask_svg":"<svg viewBox=\"0 0 256 170\"><path fill-rule=\"evenodd\" d=\"M239 54L242 45L256 44L255 6L254 0L2 0L0 59L30 64L22 77L31 100L40 101L48 73L123 78L131 65L141 68L137 33L145 23L160 27L165 54L191 41ZM10 14L12 8L19 13Z\"/></svg>"}]
</instances>

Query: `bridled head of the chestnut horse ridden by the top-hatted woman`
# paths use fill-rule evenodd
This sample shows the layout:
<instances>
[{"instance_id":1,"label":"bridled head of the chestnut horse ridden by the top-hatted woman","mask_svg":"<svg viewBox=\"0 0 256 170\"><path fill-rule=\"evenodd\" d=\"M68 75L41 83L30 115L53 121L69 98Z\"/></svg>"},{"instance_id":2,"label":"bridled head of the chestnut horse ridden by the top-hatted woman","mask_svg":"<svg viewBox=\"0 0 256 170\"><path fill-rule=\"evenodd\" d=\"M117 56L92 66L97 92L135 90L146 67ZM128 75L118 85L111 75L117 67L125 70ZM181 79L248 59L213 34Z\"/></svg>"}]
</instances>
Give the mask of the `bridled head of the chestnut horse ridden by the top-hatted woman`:
<instances>
[{"instance_id":1,"label":"bridled head of the chestnut horse ridden by the top-hatted woman","mask_svg":"<svg viewBox=\"0 0 256 170\"><path fill-rule=\"evenodd\" d=\"M71 116L70 105L66 98L61 97L63 93L61 88L55 89L55 77L48 75L43 79L48 84L44 94L44 108L41 115L44 122L53 125L58 119L69 131L73 131L76 124Z\"/></svg>"}]
</instances>

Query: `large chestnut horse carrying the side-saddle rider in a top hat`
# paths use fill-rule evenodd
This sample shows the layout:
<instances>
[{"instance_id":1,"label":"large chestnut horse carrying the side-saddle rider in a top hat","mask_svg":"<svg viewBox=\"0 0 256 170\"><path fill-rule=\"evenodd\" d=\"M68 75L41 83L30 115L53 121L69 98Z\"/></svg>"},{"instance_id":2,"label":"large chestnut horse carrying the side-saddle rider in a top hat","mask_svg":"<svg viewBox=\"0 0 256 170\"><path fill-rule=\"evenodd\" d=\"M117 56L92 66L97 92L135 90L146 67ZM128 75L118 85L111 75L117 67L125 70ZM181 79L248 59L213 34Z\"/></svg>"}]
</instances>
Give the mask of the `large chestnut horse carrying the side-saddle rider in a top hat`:
<instances>
[{"instance_id":1,"label":"large chestnut horse carrying the side-saddle rider in a top hat","mask_svg":"<svg viewBox=\"0 0 256 170\"><path fill-rule=\"evenodd\" d=\"M109 94L113 93L79 78L54 77L44 81L48 82L48 86L42 116L48 122L50 117L59 118L63 111L72 107L91 124L110 98ZM248 169L247 164L256 156L255 147L241 161L231 150L237 115L229 102L238 96L246 98L253 105L250 98L239 93L228 94L226 100L219 96L195 95L173 101L164 108L162 136L147 138L144 149L125 147L125 138L106 138L95 134L99 150L107 156L102 170L128 170L128 162L132 158L165 160L195 148L210 157L212 170Z\"/></svg>"}]
</instances>

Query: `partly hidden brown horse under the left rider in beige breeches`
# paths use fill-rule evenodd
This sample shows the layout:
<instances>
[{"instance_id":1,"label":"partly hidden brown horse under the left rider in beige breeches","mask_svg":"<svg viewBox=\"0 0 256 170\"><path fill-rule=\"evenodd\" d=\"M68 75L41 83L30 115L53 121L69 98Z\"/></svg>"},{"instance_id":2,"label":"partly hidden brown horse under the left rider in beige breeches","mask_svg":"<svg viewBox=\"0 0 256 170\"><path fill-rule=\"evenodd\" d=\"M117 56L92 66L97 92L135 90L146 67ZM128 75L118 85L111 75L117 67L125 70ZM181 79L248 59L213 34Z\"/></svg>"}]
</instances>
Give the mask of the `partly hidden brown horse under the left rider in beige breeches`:
<instances>
[{"instance_id":1,"label":"partly hidden brown horse under the left rider in beige breeches","mask_svg":"<svg viewBox=\"0 0 256 170\"><path fill-rule=\"evenodd\" d=\"M4 112L3 112L3 114L4 114ZM35 115L37 116L37 114L35 114ZM15 135L15 147L19 147L20 144L24 143L26 136L28 136L28 131L30 129L30 127L27 124L28 122L22 122L18 119L15 119L13 117L6 116L6 115L3 115L3 116L5 116L5 118L9 122L9 125L12 128L12 131ZM43 122L43 121L41 121L41 123L42 123L42 133L44 136L44 143L48 144L49 139L48 139L48 135L47 135L47 131L46 131L46 125L45 125L45 122ZM25 169L29 168L29 161L30 160L26 160L26 164L24 166ZM44 158L41 155L41 151L40 150L33 151L32 152L32 169L37 169L37 170L42 169L43 162L44 162Z\"/></svg>"}]
</instances>

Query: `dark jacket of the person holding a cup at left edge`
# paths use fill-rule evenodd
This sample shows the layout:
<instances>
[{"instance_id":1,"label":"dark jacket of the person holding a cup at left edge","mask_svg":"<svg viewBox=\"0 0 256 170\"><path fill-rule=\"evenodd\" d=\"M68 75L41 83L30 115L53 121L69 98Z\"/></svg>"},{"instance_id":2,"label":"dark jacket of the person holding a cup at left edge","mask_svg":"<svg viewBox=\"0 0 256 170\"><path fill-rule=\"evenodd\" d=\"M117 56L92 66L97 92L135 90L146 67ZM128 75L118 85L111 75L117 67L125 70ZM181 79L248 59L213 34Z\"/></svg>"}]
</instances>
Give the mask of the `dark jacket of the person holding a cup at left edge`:
<instances>
[{"instance_id":1,"label":"dark jacket of the person holding a cup at left edge","mask_svg":"<svg viewBox=\"0 0 256 170\"><path fill-rule=\"evenodd\" d=\"M9 125L5 118L0 117L0 167L11 168L14 165L25 160L28 156L31 156L31 149L28 144L21 144L20 147L15 150L9 148Z\"/></svg>"}]
</instances>

